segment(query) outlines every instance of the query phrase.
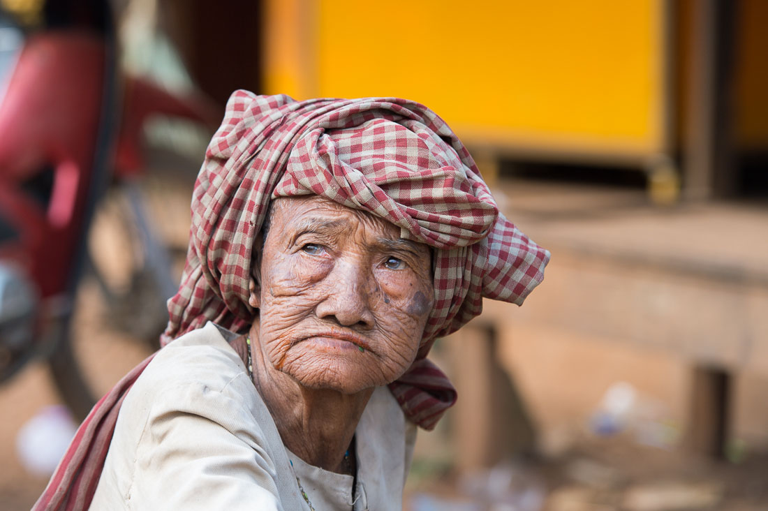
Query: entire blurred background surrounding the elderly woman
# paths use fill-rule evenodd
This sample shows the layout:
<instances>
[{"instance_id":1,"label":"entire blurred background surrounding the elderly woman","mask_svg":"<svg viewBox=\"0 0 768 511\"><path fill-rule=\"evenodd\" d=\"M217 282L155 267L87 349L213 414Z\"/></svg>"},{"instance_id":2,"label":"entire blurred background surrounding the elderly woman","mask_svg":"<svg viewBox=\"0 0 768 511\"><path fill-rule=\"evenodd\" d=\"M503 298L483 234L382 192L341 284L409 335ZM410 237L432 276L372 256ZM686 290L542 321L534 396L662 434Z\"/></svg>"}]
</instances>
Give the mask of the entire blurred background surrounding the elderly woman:
<instances>
[{"instance_id":1,"label":"entire blurred background surrounding the elderly woman","mask_svg":"<svg viewBox=\"0 0 768 511\"><path fill-rule=\"evenodd\" d=\"M0 0L0 508L154 350L236 88L429 105L551 263L406 509L768 508L768 2Z\"/></svg>"}]
</instances>

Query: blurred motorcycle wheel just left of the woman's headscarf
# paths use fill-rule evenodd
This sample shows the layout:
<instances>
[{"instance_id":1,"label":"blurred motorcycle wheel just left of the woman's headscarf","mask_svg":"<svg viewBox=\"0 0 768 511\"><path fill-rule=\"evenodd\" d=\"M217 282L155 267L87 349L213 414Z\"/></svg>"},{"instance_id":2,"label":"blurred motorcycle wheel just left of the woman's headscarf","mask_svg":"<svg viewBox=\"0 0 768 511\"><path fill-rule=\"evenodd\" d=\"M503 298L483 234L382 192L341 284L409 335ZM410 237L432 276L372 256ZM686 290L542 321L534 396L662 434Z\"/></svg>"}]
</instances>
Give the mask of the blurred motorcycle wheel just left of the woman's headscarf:
<instances>
[{"instance_id":1,"label":"blurred motorcycle wheel just left of the woman's headscarf","mask_svg":"<svg viewBox=\"0 0 768 511\"><path fill-rule=\"evenodd\" d=\"M189 197L190 185L151 179L112 187L98 205L88 263L49 359L62 400L80 419L159 347L186 253Z\"/></svg>"}]
</instances>

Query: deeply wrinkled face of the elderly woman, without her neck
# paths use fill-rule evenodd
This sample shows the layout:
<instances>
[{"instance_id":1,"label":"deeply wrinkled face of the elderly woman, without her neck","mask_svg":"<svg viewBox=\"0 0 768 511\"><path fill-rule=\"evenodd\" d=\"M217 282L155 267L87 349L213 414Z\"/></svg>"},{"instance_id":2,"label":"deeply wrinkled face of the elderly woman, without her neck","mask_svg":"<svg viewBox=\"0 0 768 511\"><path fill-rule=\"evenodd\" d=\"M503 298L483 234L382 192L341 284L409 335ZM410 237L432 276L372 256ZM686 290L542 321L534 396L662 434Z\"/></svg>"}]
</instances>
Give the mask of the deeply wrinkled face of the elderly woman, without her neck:
<instances>
[{"instance_id":1,"label":"deeply wrinkled face of the elderly woman, without her neck","mask_svg":"<svg viewBox=\"0 0 768 511\"><path fill-rule=\"evenodd\" d=\"M354 393L410 367L434 304L425 244L316 195L276 199L260 264L260 344L305 387Z\"/></svg>"}]
</instances>

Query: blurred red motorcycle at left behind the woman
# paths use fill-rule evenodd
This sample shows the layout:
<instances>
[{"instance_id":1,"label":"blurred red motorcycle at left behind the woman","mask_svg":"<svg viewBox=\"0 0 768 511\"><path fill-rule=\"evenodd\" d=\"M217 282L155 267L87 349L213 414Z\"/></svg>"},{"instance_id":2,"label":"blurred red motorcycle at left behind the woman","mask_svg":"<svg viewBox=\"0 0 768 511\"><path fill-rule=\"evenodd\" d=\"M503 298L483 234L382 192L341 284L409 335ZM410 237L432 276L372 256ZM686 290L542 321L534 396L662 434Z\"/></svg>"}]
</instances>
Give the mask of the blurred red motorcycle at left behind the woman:
<instances>
[{"instance_id":1,"label":"blurred red motorcycle at left behind the woman","mask_svg":"<svg viewBox=\"0 0 768 511\"><path fill-rule=\"evenodd\" d=\"M167 247L154 234L157 219L147 219L142 202L141 130L154 114L207 127L219 120L207 101L121 75L106 2L86 3L96 8L78 18L77 9L58 2L45 10L44 28L29 34L0 15L0 382L33 357L46 357L61 397L79 417L90 410L94 391L73 350L78 285L95 275L109 303L129 292L112 289L94 269L94 211L105 197L121 195L131 250L139 252L131 278L136 284L144 275L150 308L163 311L177 282ZM152 324L147 337L156 343L164 317L133 323Z\"/></svg>"}]
</instances>

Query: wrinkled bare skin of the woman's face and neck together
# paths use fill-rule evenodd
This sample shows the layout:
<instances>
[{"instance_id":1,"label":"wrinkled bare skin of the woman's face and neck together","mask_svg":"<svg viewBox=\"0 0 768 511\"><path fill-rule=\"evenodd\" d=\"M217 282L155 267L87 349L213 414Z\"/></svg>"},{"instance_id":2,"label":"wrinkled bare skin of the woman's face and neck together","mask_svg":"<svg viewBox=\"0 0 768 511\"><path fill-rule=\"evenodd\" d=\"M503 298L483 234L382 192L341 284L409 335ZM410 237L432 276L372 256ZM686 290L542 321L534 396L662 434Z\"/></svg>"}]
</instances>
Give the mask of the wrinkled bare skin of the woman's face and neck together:
<instances>
[{"instance_id":1,"label":"wrinkled bare skin of the woman's face and neck together","mask_svg":"<svg viewBox=\"0 0 768 511\"><path fill-rule=\"evenodd\" d=\"M323 197L273 202L250 304L257 387L288 449L341 470L374 387L415 358L434 304L429 247Z\"/></svg>"}]
</instances>

